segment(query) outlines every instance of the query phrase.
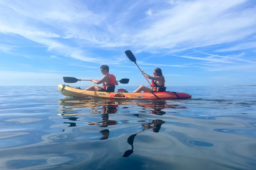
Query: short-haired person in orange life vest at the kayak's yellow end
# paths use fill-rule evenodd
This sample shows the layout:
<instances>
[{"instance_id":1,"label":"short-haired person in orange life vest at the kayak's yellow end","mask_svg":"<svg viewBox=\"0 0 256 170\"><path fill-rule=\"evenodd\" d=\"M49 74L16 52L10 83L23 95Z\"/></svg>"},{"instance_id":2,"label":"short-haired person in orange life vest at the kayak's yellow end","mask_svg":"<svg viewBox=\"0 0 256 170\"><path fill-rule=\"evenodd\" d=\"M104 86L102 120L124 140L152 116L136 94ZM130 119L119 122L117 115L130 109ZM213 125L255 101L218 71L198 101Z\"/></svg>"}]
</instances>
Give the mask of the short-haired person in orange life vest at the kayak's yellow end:
<instances>
[{"instance_id":1,"label":"short-haired person in orange life vest at the kayak's yellow end","mask_svg":"<svg viewBox=\"0 0 256 170\"><path fill-rule=\"evenodd\" d=\"M94 82L95 84L102 83L103 86L99 87L99 86L96 86L95 84L93 84L92 86L86 88L85 90L90 90L90 91L100 90L100 91L114 92L115 85L118 85L115 75L109 74L109 66L108 65L101 65L100 70L104 76L100 80L90 79L90 81Z\"/></svg>"}]
</instances>

